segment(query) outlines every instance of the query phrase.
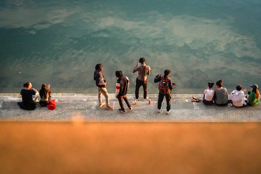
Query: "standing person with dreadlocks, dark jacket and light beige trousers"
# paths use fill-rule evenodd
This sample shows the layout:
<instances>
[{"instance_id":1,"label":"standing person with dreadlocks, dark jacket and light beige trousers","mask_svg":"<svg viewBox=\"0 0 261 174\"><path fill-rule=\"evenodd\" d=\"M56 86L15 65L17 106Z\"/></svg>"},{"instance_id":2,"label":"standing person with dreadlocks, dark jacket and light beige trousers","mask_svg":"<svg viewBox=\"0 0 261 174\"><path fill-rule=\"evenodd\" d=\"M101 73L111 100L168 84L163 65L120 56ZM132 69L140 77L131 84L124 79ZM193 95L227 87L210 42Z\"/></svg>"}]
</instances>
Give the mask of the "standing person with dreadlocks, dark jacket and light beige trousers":
<instances>
[{"instance_id":1,"label":"standing person with dreadlocks, dark jacket and light beige trousers","mask_svg":"<svg viewBox=\"0 0 261 174\"><path fill-rule=\"evenodd\" d=\"M104 80L103 74L100 72L103 70L102 64L97 64L95 66L94 71L94 80L96 81L96 86L98 88L98 100L99 100L99 107L102 107L105 105L106 102L106 108L109 110L113 110L113 107L110 106L109 103L109 94L106 89L106 80ZM102 94L105 97L105 102L102 102Z\"/></svg>"}]
</instances>

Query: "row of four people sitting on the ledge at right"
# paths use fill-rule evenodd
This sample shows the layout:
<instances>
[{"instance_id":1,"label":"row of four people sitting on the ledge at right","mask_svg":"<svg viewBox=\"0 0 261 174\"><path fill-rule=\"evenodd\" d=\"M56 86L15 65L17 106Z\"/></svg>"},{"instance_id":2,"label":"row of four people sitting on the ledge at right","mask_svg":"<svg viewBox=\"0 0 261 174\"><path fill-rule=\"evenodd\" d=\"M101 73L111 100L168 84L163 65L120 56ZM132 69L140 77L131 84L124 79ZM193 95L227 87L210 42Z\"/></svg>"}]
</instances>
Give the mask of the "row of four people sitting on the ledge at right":
<instances>
[{"instance_id":1,"label":"row of four people sitting on the ledge at right","mask_svg":"<svg viewBox=\"0 0 261 174\"><path fill-rule=\"evenodd\" d=\"M216 89L213 91L213 82L207 82L208 88L205 89L202 102L209 105L215 103L216 105L227 105L228 104L228 92L226 88L223 88L222 80L216 82ZM242 90L242 86L236 86L236 90L231 93L231 100L234 106L241 107L244 105L257 105L259 103L259 91L258 85L250 85L251 91L245 95L247 89Z\"/></svg>"}]
</instances>

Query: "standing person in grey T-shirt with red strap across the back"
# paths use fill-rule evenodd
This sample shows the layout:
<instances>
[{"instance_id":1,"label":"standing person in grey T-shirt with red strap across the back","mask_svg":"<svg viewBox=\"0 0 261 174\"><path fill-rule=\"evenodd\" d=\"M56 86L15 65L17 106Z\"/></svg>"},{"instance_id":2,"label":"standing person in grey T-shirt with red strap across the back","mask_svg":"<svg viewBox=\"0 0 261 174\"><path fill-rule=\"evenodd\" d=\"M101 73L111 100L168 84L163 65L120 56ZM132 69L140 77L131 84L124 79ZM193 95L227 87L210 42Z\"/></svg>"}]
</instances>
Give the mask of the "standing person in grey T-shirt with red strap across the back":
<instances>
[{"instance_id":1,"label":"standing person in grey T-shirt with red strap across the back","mask_svg":"<svg viewBox=\"0 0 261 174\"><path fill-rule=\"evenodd\" d=\"M140 66L139 66L140 65ZM138 64L133 69L133 73L138 71L138 77L136 79L136 87L135 87L135 98L139 99L139 89L142 86L143 87L143 97L144 99L149 99L147 96L147 75L150 75L150 66L146 66L145 59L143 57L140 58Z\"/></svg>"}]
</instances>

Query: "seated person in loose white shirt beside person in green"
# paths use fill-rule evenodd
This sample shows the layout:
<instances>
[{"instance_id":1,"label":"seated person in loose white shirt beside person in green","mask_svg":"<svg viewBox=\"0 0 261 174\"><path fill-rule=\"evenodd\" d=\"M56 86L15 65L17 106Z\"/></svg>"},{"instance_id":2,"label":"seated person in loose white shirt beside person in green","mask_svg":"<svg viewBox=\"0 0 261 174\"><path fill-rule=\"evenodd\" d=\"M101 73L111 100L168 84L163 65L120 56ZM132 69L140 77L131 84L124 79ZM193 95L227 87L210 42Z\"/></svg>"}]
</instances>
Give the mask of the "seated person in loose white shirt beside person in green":
<instances>
[{"instance_id":1,"label":"seated person in loose white shirt beside person in green","mask_svg":"<svg viewBox=\"0 0 261 174\"><path fill-rule=\"evenodd\" d=\"M243 100L245 97L244 92L246 92L246 88L242 91L242 86L236 86L236 90L231 93L231 99L234 106L240 107L246 105L246 101Z\"/></svg>"}]
</instances>

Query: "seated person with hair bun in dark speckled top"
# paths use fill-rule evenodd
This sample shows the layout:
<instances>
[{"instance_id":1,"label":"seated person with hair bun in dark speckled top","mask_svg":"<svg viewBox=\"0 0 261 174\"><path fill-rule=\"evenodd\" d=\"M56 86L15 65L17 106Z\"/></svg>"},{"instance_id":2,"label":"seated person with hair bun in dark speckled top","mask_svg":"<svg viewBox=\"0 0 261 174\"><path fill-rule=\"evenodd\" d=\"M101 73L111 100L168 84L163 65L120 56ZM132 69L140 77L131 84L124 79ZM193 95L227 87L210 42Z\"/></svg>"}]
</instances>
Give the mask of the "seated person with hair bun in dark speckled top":
<instances>
[{"instance_id":1,"label":"seated person with hair bun in dark speckled top","mask_svg":"<svg viewBox=\"0 0 261 174\"><path fill-rule=\"evenodd\" d=\"M214 101L217 105L223 106L228 103L228 91L226 88L223 88L223 83L222 80L218 80L216 82L216 89L214 93Z\"/></svg>"}]
</instances>

